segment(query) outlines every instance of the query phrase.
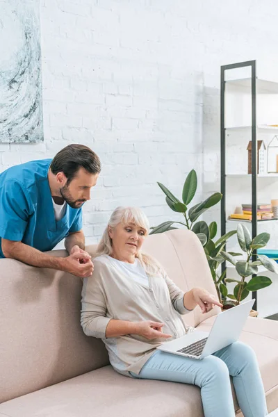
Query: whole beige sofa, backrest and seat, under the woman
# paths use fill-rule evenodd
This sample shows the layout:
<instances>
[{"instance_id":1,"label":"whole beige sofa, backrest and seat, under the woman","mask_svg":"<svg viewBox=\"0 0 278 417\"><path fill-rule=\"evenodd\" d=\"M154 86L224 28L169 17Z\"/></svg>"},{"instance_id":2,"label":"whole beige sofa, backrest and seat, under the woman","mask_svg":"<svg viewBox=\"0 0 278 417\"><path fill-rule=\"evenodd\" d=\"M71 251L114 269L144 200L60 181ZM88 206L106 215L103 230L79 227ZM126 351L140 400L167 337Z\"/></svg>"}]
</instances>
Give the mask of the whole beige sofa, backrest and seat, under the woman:
<instances>
[{"instance_id":1,"label":"whole beige sofa, backrest and seat, under the woman","mask_svg":"<svg viewBox=\"0 0 278 417\"><path fill-rule=\"evenodd\" d=\"M183 290L202 286L215 293L193 232L150 236L145 252L161 261ZM81 286L72 275L1 259L0 417L203 416L197 386L115 373L103 343L82 332ZM184 318L208 330L218 312L202 315L197 307ZM240 339L256 352L272 411L278 407L278 322L249 318Z\"/></svg>"}]
</instances>

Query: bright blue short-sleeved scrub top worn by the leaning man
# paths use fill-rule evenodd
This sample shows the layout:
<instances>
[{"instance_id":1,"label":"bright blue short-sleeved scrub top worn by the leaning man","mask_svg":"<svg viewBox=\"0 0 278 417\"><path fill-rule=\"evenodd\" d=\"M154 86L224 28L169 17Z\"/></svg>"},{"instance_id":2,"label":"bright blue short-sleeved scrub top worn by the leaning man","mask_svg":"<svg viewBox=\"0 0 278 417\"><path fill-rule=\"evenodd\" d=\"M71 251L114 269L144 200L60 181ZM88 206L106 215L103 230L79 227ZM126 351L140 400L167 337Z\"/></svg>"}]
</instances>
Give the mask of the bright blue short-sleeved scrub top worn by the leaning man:
<instances>
[{"instance_id":1,"label":"bright blue short-sleeved scrub top worn by the leaning man","mask_svg":"<svg viewBox=\"0 0 278 417\"><path fill-rule=\"evenodd\" d=\"M55 219L47 173L51 159L15 165L0 174L1 238L22 241L42 252L52 250L67 234L82 229L82 208L66 205Z\"/></svg>"}]
</instances>

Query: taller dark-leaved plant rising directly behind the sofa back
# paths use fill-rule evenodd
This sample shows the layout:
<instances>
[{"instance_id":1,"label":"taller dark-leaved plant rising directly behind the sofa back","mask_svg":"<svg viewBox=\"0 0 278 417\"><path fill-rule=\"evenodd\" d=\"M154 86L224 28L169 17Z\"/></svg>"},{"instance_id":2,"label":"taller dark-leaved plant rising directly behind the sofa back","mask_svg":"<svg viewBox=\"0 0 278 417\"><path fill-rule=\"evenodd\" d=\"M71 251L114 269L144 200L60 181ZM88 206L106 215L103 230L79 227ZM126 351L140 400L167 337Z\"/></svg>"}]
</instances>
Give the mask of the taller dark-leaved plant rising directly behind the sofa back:
<instances>
[{"instance_id":1,"label":"taller dark-leaved plant rising directly behind the sofa back","mask_svg":"<svg viewBox=\"0 0 278 417\"><path fill-rule=\"evenodd\" d=\"M197 190L197 174L195 170L191 170L186 177L186 181L183 185L182 191L182 202L177 197L175 197L170 190L168 190L162 183L158 182L158 186L163 190L165 194L166 203L171 208L172 211L177 213L181 213L183 215L183 222L178 222L175 220L170 220L167 222L163 222L156 227L152 227L152 231L150 234L157 234L163 233L164 231L177 229L174 227L173 224L181 224L182 226L186 227L188 230L194 231L194 233L198 236L199 240L201 241L204 251L206 253L206 257L208 259L208 265L211 269L211 275L213 277L213 281L215 283L215 288L218 293L218 297L220 302L226 300L227 297L227 286L224 284L224 276L225 271L222 275L219 274L219 266L220 263L224 261L224 257L221 256L222 250L224 249L227 240L236 234L236 230L229 231L229 233L225 234L224 236L220 237L215 242L213 239L217 234L217 224L216 222L211 222L211 224L207 224L204 220L196 222L200 215L202 215L208 208L215 206L220 202L222 198L221 193L214 193L210 197L204 200L204 202L200 202L195 204L189 208L189 204L192 201L193 197L195 197L195 193ZM234 252L227 252L231 256L235 256Z\"/></svg>"}]
</instances>

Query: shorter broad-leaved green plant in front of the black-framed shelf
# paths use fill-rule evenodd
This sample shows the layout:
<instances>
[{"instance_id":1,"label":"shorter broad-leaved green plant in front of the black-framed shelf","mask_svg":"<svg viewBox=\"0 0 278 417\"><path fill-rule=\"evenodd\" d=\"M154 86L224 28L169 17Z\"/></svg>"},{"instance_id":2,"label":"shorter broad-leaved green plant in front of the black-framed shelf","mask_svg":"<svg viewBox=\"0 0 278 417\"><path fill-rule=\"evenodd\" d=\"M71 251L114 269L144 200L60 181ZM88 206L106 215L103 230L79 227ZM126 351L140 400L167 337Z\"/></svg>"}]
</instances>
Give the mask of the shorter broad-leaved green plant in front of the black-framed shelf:
<instances>
[{"instance_id":1,"label":"shorter broad-leaved green plant in front of the black-framed shelf","mask_svg":"<svg viewBox=\"0 0 278 417\"><path fill-rule=\"evenodd\" d=\"M226 261L235 265L236 272L238 272L238 275L240 275L241 278L240 281L238 279L224 279L226 283L232 282L236 284L234 287L234 294L227 294L227 297L231 300L227 300L225 304L230 306L240 304L240 301L243 301L249 295L250 291L258 291L261 290L261 288L265 288L272 284L270 278L261 275L252 277L248 282L245 281L247 277L258 272L259 265L263 265L267 270L278 274L277 263L273 259L268 258L268 256L257 254L257 260L252 261L254 250L265 247L270 240L270 234L261 233L252 239L247 227L245 227L244 224L238 224L237 236L240 249L246 254L246 260L240 259L240 261L238 261L235 256L231 256L231 254L227 252L222 251L221 253L221 256L223 256Z\"/></svg>"}]
</instances>

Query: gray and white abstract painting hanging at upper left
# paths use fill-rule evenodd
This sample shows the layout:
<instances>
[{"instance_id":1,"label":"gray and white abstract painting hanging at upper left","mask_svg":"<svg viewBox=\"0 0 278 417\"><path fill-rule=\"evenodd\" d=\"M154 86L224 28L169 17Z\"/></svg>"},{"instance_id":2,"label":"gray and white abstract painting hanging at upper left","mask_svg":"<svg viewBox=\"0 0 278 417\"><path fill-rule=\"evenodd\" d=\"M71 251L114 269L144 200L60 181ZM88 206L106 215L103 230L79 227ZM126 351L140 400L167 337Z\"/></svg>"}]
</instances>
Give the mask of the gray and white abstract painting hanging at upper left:
<instances>
[{"instance_id":1,"label":"gray and white abstract painting hanging at upper left","mask_svg":"<svg viewBox=\"0 0 278 417\"><path fill-rule=\"evenodd\" d=\"M0 0L0 143L43 141L40 0Z\"/></svg>"}]
</instances>

